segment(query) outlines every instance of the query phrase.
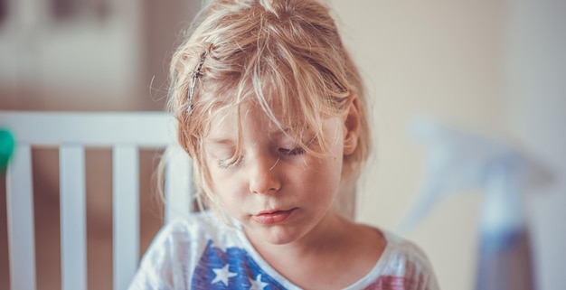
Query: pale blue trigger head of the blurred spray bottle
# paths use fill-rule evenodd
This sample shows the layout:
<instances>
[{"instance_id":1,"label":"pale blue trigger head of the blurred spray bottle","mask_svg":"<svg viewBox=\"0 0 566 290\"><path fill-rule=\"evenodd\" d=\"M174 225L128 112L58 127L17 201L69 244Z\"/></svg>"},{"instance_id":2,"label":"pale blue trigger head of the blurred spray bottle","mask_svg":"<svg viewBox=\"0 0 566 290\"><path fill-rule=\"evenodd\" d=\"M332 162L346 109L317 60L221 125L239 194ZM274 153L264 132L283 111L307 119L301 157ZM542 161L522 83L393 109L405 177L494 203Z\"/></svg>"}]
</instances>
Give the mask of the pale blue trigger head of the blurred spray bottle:
<instances>
[{"instance_id":1,"label":"pale blue trigger head of the blurred spray bottle","mask_svg":"<svg viewBox=\"0 0 566 290\"><path fill-rule=\"evenodd\" d=\"M485 193L483 216L497 210L505 215L505 222L516 223L523 219L523 209L515 205L522 202L525 188L548 180L542 166L495 139L430 120L414 122L411 133L429 146L427 174L416 202L401 221L401 233L413 229L439 201L468 189Z\"/></svg>"}]
</instances>

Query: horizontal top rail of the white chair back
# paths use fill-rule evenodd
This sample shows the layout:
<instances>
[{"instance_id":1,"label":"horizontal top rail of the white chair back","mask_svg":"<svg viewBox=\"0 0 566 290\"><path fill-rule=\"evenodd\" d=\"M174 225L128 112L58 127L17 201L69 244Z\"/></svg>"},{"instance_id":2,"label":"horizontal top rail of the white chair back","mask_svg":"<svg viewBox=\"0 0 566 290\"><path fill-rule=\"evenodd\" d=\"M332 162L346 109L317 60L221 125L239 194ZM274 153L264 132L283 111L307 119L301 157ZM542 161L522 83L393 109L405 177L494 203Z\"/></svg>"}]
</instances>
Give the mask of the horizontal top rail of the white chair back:
<instances>
[{"instance_id":1,"label":"horizontal top rail of the white chair back","mask_svg":"<svg viewBox=\"0 0 566 290\"><path fill-rule=\"evenodd\" d=\"M156 148L175 143L176 132L175 118L162 112L0 110L0 124L14 132L18 144L32 145L137 145Z\"/></svg>"}]
</instances>

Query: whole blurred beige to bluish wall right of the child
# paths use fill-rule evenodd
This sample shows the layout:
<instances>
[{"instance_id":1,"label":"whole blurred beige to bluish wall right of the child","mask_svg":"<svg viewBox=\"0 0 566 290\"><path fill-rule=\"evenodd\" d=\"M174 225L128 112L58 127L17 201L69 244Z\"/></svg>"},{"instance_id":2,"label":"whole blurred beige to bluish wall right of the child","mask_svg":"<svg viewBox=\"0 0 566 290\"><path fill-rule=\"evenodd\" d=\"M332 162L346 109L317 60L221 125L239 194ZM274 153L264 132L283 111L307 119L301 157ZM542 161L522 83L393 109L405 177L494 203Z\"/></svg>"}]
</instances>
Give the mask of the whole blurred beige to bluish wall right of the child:
<instances>
[{"instance_id":1,"label":"whole blurred beige to bluish wall right of the child","mask_svg":"<svg viewBox=\"0 0 566 290\"><path fill-rule=\"evenodd\" d=\"M566 3L328 1L373 98L376 152L358 219L396 229L423 182L415 117L473 128L531 154L551 183L526 196L535 288L566 284ZM480 192L441 201L409 239L442 289L473 289Z\"/></svg>"}]
</instances>

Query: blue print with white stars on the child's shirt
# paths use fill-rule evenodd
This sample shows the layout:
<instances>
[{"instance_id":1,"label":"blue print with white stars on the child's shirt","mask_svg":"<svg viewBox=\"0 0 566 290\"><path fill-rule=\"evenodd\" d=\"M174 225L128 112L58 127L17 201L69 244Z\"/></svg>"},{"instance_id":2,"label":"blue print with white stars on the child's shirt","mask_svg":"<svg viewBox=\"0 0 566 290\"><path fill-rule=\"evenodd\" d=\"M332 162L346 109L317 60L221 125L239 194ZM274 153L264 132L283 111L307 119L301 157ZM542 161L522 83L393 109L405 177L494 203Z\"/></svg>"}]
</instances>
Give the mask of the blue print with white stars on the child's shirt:
<instances>
[{"instance_id":1,"label":"blue print with white stars on the child's shirt","mask_svg":"<svg viewBox=\"0 0 566 290\"><path fill-rule=\"evenodd\" d=\"M278 281L265 273L243 248L222 248L207 242L194 269L192 290L283 290Z\"/></svg>"}]
</instances>

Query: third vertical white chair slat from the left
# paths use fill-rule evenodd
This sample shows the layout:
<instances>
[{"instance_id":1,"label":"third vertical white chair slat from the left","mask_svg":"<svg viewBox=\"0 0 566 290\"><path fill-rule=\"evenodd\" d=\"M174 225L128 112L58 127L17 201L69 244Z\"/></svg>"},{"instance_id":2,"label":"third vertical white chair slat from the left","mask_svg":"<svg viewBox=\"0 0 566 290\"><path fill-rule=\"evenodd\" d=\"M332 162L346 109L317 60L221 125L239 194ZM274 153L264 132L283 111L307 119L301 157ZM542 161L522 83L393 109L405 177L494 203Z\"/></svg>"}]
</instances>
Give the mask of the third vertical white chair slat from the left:
<instances>
[{"instance_id":1,"label":"third vertical white chair slat from the left","mask_svg":"<svg viewBox=\"0 0 566 290\"><path fill-rule=\"evenodd\" d=\"M126 289L139 259L139 161L137 147L113 149L114 289Z\"/></svg>"}]
</instances>

